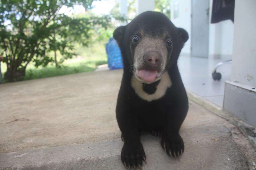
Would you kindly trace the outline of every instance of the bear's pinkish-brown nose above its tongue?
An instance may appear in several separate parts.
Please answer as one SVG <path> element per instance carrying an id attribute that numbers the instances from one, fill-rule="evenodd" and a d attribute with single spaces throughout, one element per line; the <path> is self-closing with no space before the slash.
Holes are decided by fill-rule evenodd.
<path id="1" fill-rule="evenodd" d="M 158 69 L 162 62 L 162 56 L 158 51 L 148 51 L 143 56 L 143 61 L 147 67 L 151 69 Z"/>

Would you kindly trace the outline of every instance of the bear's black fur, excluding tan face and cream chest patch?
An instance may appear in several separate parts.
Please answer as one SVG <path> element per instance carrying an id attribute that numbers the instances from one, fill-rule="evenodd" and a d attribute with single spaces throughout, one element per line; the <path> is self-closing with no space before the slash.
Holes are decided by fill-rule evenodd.
<path id="1" fill-rule="evenodd" d="M 165 68 L 172 86 L 167 89 L 162 98 L 152 102 L 141 99 L 131 87 L 133 76 L 131 66 L 135 49 L 131 47 L 131 39 L 140 29 L 152 37 L 166 32 L 173 41 L 173 49 L 172 52 L 168 51 L 168 63 Z M 124 64 L 116 105 L 116 118 L 124 139 L 121 151 L 122 162 L 127 166 L 136 167 L 141 166 L 142 160 L 146 159 L 140 141 L 141 130 L 161 132 L 161 145 L 166 153 L 175 157 L 182 154 L 184 143 L 179 135 L 179 129 L 188 111 L 188 98 L 177 60 L 184 43 L 188 40 L 187 32 L 182 28 L 176 28 L 164 14 L 147 11 L 138 15 L 126 26 L 117 28 L 113 37 L 120 46 Z M 144 91 L 153 94 L 158 83 L 146 84 Z"/>

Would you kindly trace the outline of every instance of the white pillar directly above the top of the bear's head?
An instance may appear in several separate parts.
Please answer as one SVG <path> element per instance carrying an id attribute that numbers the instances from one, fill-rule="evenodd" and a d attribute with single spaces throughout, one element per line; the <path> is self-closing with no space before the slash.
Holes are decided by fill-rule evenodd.
<path id="1" fill-rule="evenodd" d="M 154 0 L 137 0 L 136 14 L 139 15 L 145 11 L 154 11 L 155 1 Z"/>

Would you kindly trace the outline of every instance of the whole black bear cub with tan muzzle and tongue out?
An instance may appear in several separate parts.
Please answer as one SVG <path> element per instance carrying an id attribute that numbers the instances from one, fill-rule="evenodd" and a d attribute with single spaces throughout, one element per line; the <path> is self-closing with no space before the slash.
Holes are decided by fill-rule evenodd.
<path id="1" fill-rule="evenodd" d="M 123 78 L 116 105 L 116 119 L 124 145 L 121 160 L 139 167 L 146 155 L 141 131 L 161 137 L 169 156 L 179 157 L 184 143 L 179 135 L 188 111 L 188 98 L 177 60 L 188 33 L 162 13 L 147 11 L 113 33 L 123 58 Z"/>

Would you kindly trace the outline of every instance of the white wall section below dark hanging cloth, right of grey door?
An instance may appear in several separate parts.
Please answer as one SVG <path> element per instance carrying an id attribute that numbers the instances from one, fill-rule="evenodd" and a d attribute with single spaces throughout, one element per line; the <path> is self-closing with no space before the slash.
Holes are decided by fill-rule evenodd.
<path id="1" fill-rule="evenodd" d="M 209 56 L 230 57 L 233 52 L 234 24 L 225 20 L 211 24 L 212 0 L 209 8 Z"/>

